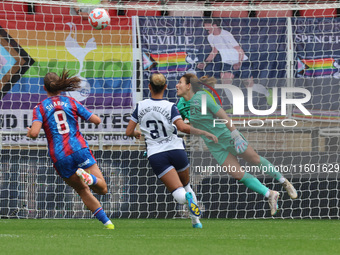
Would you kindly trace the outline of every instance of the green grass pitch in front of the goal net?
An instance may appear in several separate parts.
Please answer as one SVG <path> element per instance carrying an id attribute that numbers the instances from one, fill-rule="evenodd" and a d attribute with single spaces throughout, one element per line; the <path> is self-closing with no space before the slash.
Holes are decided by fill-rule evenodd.
<path id="1" fill-rule="evenodd" d="M 339 254 L 338 220 L 0 220 L 0 254 Z"/>

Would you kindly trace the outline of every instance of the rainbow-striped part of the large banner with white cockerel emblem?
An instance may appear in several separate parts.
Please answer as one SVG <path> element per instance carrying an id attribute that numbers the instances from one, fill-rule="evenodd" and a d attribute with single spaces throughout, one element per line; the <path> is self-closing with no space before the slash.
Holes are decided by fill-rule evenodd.
<path id="1" fill-rule="evenodd" d="M 9 19 L 8 19 L 9 18 Z M 24 15 L 0 18 L 0 78 L 2 109 L 32 109 L 46 98 L 43 77 L 64 68 L 81 78 L 81 90 L 69 93 L 89 109 L 132 107 L 131 27 L 126 19 L 105 30 L 94 30 L 78 17 L 48 18 Z M 30 61 L 21 61 L 9 48 L 12 43 L 27 53 Z M 13 56 L 11 56 L 11 54 Z M 29 62 L 29 64 L 27 64 Z M 11 72 L 20 64 L 25 72 Z M 13 80 L 13 77 L 16 80 Z M 13 82 L 14 81 L 14 82 Z"/>

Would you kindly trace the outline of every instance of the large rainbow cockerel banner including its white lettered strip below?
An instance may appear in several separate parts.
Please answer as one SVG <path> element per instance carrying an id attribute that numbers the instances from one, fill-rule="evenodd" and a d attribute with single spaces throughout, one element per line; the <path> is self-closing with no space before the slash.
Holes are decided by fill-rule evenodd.
<path id="1" fill-rule="evenodd" d="M 65 68 L 81 79 L 79 91 L 66 92 L 99 115 L 102 124 L 80 120 L 87 132 L 122 132 L 132 111 L 131 19 L 112 19 L 111 26 L 94 30 L 80 16 L 6 15 L 0 17 L 0 131 L 25 132 L 32 109 L 47 95 L 46 73 Z M 105 136 L 107 144 L 131 139 Z M 28 143 L 25 135 L 6 143 Z M 37 139 L 37 144 L 45 144 Z M 89 141 L 90 144 L 98 140 Z"/>

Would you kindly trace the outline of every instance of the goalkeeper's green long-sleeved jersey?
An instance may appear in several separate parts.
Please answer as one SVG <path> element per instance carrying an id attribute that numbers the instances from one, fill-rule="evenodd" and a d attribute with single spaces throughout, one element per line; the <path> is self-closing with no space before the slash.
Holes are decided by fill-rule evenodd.
<path id="1" fill-rule="evenodd" d="M 202 114 L 202 95 L 205 94 L 207 98 L 207 114 Z M 204 91 L 198 91 L 189 101 L 185 101 L 182 97 L 177 108 L 182 115 L 183 119 L 188 119 L 193 127 L 205 130 L 209 133 L 214 134 L 219 137 L 222 134 L 230 133 L 229 129 L 225 124 L 216 124 L 214 126 L 214 119 L 217 119 L 216 112 L 218 112 L 221 107 L 216 104 L 216 102 Z M 205 136 L 201 136 L 206 144 L 214 144 L 213 141 L 209 140 Z"/>

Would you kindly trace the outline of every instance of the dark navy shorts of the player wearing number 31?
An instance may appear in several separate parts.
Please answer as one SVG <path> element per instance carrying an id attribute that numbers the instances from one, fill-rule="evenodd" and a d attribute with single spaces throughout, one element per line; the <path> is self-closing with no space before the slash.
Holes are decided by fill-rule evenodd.
<path id="1" fill-rule="evenodd" d="M 163 177 L 173 168 L 179 173 L 190 166 L 185 150 L 172 150 L 156 153 L 149 157 L 149 162 L 153 172 L 158 178 Z"/>

